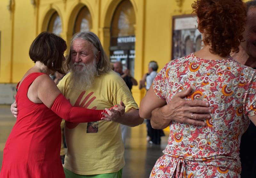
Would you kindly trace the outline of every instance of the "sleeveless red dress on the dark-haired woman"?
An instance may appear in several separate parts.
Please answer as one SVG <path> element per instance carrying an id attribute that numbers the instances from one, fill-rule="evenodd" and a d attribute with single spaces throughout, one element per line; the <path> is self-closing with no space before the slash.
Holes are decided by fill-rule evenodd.
<path id="1" fill-rule="evenodd" d="M 42 74 L 29 74 L 17 92 L 19 114 L 5 143 L 0 178 L 65 178 L 60 161 L 61 117 L 56 110 L 52 111 L 53 108 L 49 109 L 43 103 L 35 104 L 27 97 L 29 86 Z M 93 110 L 94 113 L 101 111 Z"/>

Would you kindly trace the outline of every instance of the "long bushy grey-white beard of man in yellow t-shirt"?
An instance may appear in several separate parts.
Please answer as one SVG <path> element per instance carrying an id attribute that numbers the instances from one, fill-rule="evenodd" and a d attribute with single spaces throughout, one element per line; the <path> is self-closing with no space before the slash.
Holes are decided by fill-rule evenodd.
<path id="1" fill-rule="evenodd" d="M 83 66 L 83 68 L 80 69 L 80 66 Z M 84 63 L 70 62 L 70 68 L 71 88 L 87 90 L 92 87 L 94 77 L 97 73 L 95 59 L 93 59 L 93 61 L 87 65 L 85 65 Z"/>

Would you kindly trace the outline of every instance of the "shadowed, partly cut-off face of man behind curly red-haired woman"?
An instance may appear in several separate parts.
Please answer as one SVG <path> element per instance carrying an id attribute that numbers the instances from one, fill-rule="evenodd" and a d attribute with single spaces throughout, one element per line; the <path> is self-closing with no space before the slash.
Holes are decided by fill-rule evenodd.
<path id="1" fill-rule="evenodd" d="M 243 36 L 245 41 L 241 43 L 241 46 L 250 57 L 256 58 L 256 7 L 251 7 L 247 12 Z"/>

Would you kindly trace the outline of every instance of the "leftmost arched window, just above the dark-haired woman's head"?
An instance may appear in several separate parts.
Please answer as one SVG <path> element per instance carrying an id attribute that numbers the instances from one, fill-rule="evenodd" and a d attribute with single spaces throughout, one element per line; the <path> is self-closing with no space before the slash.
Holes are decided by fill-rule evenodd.
<path id="1" fill-rule="evenodd" d="M 62 27 L 61 27 L 61 19 L 59 14 L 55 11 L 53 12 L 48 26 L 47 26 L 47 31 L 52 32 L 58 36 L 60 36 L 60 33 L 62 32 Z"/>

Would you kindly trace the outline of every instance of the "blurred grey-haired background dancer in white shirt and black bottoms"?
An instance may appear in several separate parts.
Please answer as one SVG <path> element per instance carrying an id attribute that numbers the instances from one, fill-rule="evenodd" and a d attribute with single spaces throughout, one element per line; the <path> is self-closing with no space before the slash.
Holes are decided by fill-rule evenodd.
<path id="1" fill-rule="evenodd" d="M 143 75 L 142 80 L 140 80 L 140 85 L 139 85 L 139 89 L 142 88 L 146 88 L 146 90 L 148 91 L 148 89 L 150 88 L 151 84 L 153 83 L 156 75 L 157 75 L 157 69 L 158 69 L 158 65 L 156 63 L 156 61 L 150 61 L 148 64 L 148 73 Z M 145 84 L 146 82 L 146 84 Z M 164 136 L 164 132 L 162 129 L 154 129 L 152 128 L 151 124 L 150 124 L 150 120 L 146 120 L 147 122 L 147 141 L 150 144 L 160 144 L 161 143 L 161 136 Z"/>

